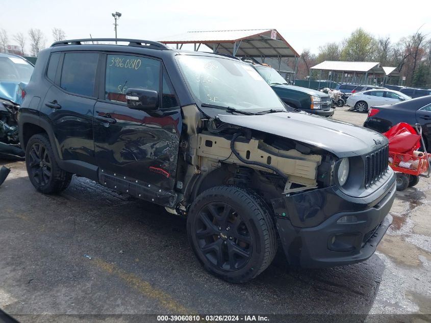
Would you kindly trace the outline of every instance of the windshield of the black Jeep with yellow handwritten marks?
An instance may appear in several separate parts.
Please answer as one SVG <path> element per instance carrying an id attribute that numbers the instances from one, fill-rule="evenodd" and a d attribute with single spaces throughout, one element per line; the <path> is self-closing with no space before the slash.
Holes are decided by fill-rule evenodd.
<path id="1" fill-rule="evenodd" d="M 199 104 L 239 110 L 285 110 L 280 98 L 248 64 L 196 55 L 178 55 L 176 60 Z"/>

